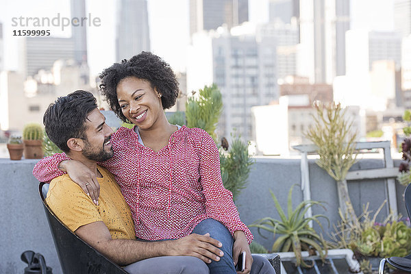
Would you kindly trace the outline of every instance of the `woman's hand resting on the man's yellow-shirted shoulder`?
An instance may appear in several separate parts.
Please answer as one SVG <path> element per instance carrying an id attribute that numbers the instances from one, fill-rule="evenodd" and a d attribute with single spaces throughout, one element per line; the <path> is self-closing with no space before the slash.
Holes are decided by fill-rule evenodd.
<path id="1" fill-rule="evenodd" d="M 73 182 L 78 184 L 97 206 L 99 205 L 100 185 L 95 173 L 86 165 L 77 160 L 64 160 L 60 162 L 58 169 L 69 174 Z"/>

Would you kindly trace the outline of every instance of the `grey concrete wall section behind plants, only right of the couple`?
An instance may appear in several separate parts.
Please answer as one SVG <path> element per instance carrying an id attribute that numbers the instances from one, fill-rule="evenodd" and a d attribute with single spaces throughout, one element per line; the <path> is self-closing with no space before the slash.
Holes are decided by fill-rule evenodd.
<path id="1" fill-rule="evenodd" d="M 400 160 L 395 160 L 395 166 L 399 166 Z M 365 159 L 354 164 L 350 171 L 360 169 L 377 169 L 384 167 L 383 160 Z M 323 169 L 321 169 L 314 160 L 309 160 L 310 170 L 310 190 L 311 199 L 315 201 L 324 201 L 326 210 L 320 206 L 314 206 L 312 214 L 324 214 L 327 216 L 331 224 L 336 224 L 340 221 L 338 214 L 338 195 L 336 182 Z M 295 208 L 301 201 L 303 195 L 301 191 L 301 171 L 300 160 L 286 159 L 264 159 L 257 158 L 253 164 L 249 176 L 247 188 L 242 190 L 236 199 L 238 212 L 241 220 L 246 225 L 251 225 L 254 221 L 264 217 L 272 217 L 279 219 L 279 214 L 275 209 L 275 204 L 271 198 L 269 190 L 272 190 L 277 197 L 280 206 L 284 212 L 287 207 L 288 190 L 293 184 L 298 184 L 292 191 L 292 208 Z M 362 208 L 366 203 L 369 203 L 369 210 L 375 212 L 387 199 L 386 181 L 382 179 L 370 179 L 358 181 L 349 181 L 348 190 L 353 208 L 357 216 L 362 213 Z M 403 192 L 405 186 L 396 182 L 397 190 L 397 208 L 402 216 L 407 216 L 406 208 L 403 201 Z M 384 206 L 377 217 L 377 221 L 382 221 L 388 215 L 388 207 Z M 371 214 L 373 216 L 373 214 Z M 325 219 L 319 219 L 325 232 L 324 238 L 329 239 L 329 234 L 334 231 L 332 225 L 328 227 Z M 314 223 L 314 229 L 321 232 L 319 225 Z M 254 240 L 264 245 L 271 250 L 273 245 L 273 234 L 261 230 L 262 235 L 258 234 L 258 229 L 251 227 Z"/>

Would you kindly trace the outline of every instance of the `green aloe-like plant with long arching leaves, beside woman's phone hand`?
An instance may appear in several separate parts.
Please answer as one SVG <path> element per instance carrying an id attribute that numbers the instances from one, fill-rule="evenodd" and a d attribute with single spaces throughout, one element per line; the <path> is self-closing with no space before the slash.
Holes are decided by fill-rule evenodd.
<path id="1" fill-rule="evenodd" d="M 259 234 L 260 229 L 264 229 L 266 231 L 273 233 L 273 236 L 275 238 L 272 247 L 273 252 L 293 251 L 295 253 L 295 260 L 297 266 L 301 265 L 303 267 L 311 267 L 303 261 L 301 251 L 313 248 L 317 251 L 321 260 L 323 260 L 324 262 L 325 257 L 327 256 L 327 243 L 325 242 L 321 234 L 317 234 L 314 231 L 314 229 L 310 227 L 309 223 L 310 221 L 315 221 L 319 224 L 321 229 L 323 229 L 323 226 L 321 225 L 319 218 L 326 219 L 328 223 L 329 220 L 323 214 L 316 214 L 309 218 L 304 217 L 304 214 L 306 214 L 308 208 L 312 208 L 312 206 L 314 205 L 321 206 L 325 209 L 322 202 L 319 201 L 302 201 L 293 210 L 292 188 L 294 186 L 296 185 L 292 185 L 290 191 L 288 192 L 287 215 L 284 212 L 284 210 L 282 210 L 281 206 L 279 206 L 277 197 L 275 197 L 274 193 L 270 190 L 271 197 L 273 197 L 275 208 L 279 214 L 280 220 L 273 219 L 271 217 L 266 217 L 254 222 L 250 225 L 250 227 L 257 227 Z M 277 234 L 280 234 L 280 236 L 277 236 Z"/>

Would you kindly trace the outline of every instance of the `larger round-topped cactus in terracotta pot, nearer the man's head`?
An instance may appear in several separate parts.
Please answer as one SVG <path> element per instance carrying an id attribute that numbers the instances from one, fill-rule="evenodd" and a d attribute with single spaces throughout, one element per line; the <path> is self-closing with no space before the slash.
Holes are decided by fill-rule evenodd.
<path id="1" fill-rule="evenodd" d="M 43 129 L 37 123 L 25 125 L 23 129 L 24 158 L 40 159 L 43 157 L 42 149 Z"/>

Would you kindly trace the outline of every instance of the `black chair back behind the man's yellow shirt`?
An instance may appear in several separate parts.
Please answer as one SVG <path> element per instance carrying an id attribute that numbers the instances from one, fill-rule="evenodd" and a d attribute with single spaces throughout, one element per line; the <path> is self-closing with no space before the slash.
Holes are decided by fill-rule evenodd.
<path id="1" fill-rule="evenodd" d="M 38 192 L 45 208 L 63 273 L 127 273 L 119 265 L 105 258 L 99 251 L 77 237 L 53 214 L 47 203 L 45 203 L 45 197 L 43 197 L 42 186 L 44 184 L 40 183 Z"/>

